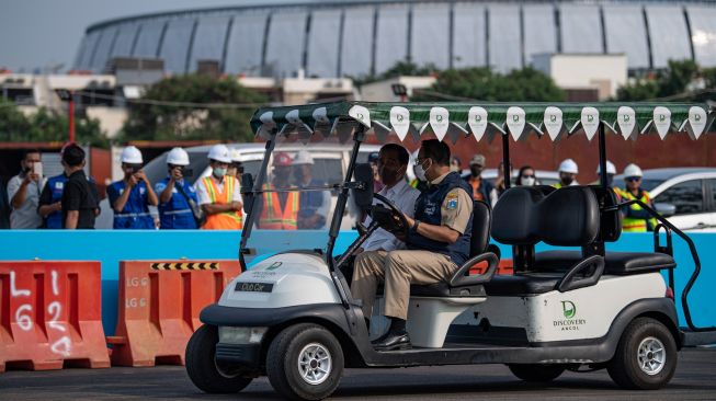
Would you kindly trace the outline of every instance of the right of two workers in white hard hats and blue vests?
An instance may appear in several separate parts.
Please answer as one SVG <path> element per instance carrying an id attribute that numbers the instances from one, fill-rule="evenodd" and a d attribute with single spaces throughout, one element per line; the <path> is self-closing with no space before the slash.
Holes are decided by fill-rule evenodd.
<path id="1" fill-rule="evenodd" d="M 196 220 L 193 207 L 198 205 L 194 187 L 184 180 L 187 172 L 189 154 L 182 148 L 172 149 L 167 154 L 169 176 L 155 185 L 159 194 L 159 228 L 162 230 L 194 230 Z"/>

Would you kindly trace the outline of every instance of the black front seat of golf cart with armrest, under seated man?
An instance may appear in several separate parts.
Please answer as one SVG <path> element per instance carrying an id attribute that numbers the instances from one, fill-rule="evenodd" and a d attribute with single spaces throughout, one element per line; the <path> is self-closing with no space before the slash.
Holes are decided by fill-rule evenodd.
<path id="1" fill-rule="evenodd" d="M 496 272 L 499 257 L 493 252 L 488 252 L 490 241 L 490 208 L 486 203 L 476 200 L 473 204 L 473 230 L 470 232 L 469 259 L 455 271 L 447 282 L 435 284 L 413 284 L 410 286 L 410 296 L 418 297 L 484 297 L 482 284 L 488 282 Z M 469 276 L 470 267 L 478 263 L 488 262 L 489 266 L 484 274 Z"/>

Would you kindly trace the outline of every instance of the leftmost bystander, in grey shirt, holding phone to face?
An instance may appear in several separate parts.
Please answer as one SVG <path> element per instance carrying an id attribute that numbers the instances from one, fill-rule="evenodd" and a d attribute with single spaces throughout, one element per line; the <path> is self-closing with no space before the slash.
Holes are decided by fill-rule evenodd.
<path id="1" fill-rule="evenodd" d="M 39 150 L 27 150 L 20 162 L 20 174 L 8 182 L 10 199 L 10 228 L 34 229 L 43 225 L 37 213 L 39 194 L 47 180 L 43 179 L 43 163 Z"/>

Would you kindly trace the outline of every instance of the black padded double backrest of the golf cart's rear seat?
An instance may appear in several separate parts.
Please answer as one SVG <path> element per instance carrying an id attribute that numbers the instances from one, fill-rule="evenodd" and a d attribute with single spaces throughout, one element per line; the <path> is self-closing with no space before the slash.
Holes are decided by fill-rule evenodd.
<path id="1" fill-rule="evenodd" d="M 512 245 L 584 247 L 600 229 L 599 203 L 586 186 L 515 186 L 502 194 L 492 217 L 492 238 Z"/>

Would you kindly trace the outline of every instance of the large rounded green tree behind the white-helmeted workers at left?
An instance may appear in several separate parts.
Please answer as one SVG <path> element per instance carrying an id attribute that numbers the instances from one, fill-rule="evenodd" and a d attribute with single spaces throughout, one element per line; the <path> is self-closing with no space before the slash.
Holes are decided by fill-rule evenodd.
<path id="1" fill-rule="evenodd" d="M 250 141 L 249 121 L 266 99 L 234 79 L 206 75 L 172 77 L 151 85 L 129 106 L 121 140 L 219 139 Z M 177 103 L 226 104 L 218 107 Z M 231 106 L 246 105 L 249 106 Z"/>

